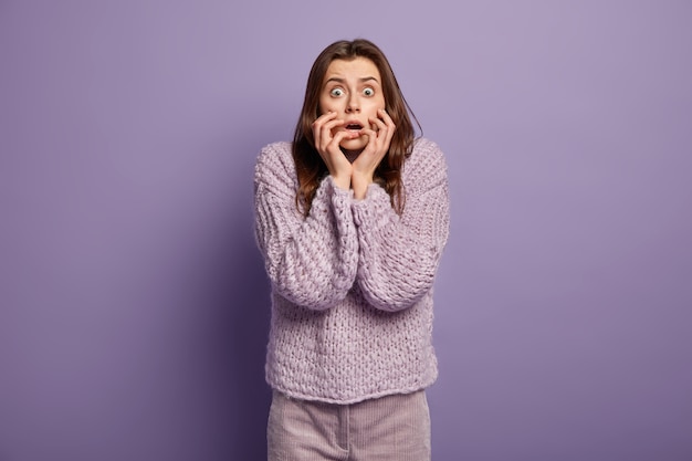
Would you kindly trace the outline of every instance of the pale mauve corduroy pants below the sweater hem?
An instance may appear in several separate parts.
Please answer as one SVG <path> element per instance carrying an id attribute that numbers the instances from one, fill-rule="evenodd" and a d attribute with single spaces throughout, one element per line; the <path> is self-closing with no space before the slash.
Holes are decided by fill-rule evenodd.
<path id="1" fill-rule="evenodd" d="M 292 399 L 274 391 L 269 461 L 430 461 L 426 392 L 352 405 Z"/>

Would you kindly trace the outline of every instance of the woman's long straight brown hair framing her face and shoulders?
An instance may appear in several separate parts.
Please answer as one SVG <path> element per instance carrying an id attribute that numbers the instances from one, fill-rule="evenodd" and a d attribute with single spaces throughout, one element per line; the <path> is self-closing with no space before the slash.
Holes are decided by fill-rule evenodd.
<path id="1" fill-rule="evenodd" d="M 391 198 L 391 205 L 398 213 L 403 210 L 405 193 L 401 182 L 401 168 L 413 148 L 415 130 L 411 117 L 418 121 L 411 112 L 408 103 L 401 94 L 397 78 L 389 65 L 389 61 L 375 43 L 357 39 L 354 41 L 342 40 L 332 43 L 324 49 L 315 60 L 305 88 L 305 101 L 301 117 L 295 127 L 293 137 L 293 160 L 298 179 L 296 206 L 307 216 L 315 197 L 315 192 L 322 179 L 328 175 L 328 170 L 322 157 L 315 148 L 312 124 L 319 114 L 319 94 L 322 92 L 324 76 L 329 64 L 334 60 L 350 61 L 356 57 L 366 57 L 377 66 L 382 78 L 382 91 L 386 111 L 391 117 L 397 129 L 395 130 L 389 151 L 375 170 L 375 181 L 385 188 Z M 409 116 L 410 114 L 410 116 Z"/>

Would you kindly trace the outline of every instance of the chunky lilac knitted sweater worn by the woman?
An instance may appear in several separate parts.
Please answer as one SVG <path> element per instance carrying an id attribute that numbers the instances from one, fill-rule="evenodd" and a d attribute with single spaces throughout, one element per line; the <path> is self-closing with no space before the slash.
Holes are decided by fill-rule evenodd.
<path id="1" fill-rule="evenodd" d="M 432 285 L 449 233 L 438 146 L 418 139 L 401 176 L 401 216 L 380 186 L 357 200 L 327 176 L 304 217 L 291 144 L 260 153 L 255 237 L 272 285 L 265 367 L 272 388 L 353 404 L 436 380 Z"/>

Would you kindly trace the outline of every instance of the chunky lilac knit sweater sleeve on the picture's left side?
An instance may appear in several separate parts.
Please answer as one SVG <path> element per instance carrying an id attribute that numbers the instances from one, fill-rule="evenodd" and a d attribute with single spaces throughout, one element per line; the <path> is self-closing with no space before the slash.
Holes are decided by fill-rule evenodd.
<path id="1" fill-rule="evenodd" d="M 255 238 L 274 290 L 292 303 L 325 310 L 354 284 L 358 241 L 353 192 L 331 177 L 319 185 L 310 214 L 295 205 L 295 167 L 290 144 L 270 145 L 254 176 Z"/>

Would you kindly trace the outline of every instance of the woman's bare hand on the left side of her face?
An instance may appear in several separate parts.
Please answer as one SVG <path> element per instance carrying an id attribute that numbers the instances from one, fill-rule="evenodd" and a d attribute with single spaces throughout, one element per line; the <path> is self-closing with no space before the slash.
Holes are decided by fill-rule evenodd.
<path id="1" fill-rule="evenodd" d="M 315 148 L 327 166 L 334 184 L 342 189 L 348 190 L 350 188 L 353 167 L 342 151 L 339 144 L 345 137 L 353 135 L 345 130 L 332 135 L 332 130 L 343 124 L 344 121 L 336 118 L 335 112 L 327 112 L 313 122 L 313 137 L 315 139 Z"/>

